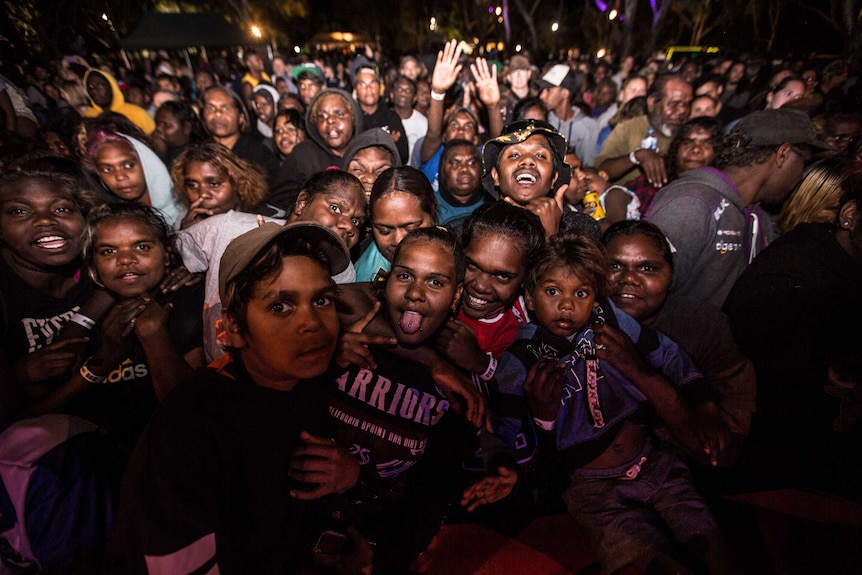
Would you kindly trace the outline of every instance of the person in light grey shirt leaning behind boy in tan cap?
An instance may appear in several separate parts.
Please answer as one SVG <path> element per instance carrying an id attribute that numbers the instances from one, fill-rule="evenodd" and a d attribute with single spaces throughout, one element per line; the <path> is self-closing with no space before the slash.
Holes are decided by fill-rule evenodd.
<path id="1" fill-rule="evenodd" d="M 352 248 L 359 242 L 359 230 L 365 213 L 365 193 L 359 180 L 345 172 L 333 170 L 312 176 L 300 192 L 287 221 L 322 224 L 333 230 L 348 248 Z M 218 292 L 221 255 L 231 240 L 257 227 L 259 217 L 230 210 L 208 217 L 179 233 L 179 250 L 188 270 L 207 273 L 203 306 L 207 361 L 224 354 L 219 341 L 219 334 L 224 333 L 221 325 L 221 295 Z M 281 219 L 269 221 L 285 223 Z M 334 278 L 336 283 L 351 283 L 355 279 L 352 264 Z"/>

